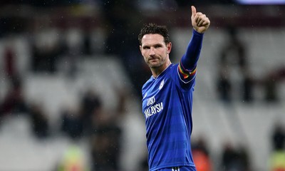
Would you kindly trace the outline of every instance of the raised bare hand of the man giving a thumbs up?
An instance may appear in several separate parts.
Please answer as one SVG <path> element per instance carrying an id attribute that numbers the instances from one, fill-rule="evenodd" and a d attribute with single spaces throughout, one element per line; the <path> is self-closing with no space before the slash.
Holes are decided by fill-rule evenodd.
<path id="1" fill-rule="evenodd" d="M 208 17 L 201 12 L 197 12 L 195 6 L 191 6 L 191 9 L 191 21 L 193 28 L 199 33 L 204 33 L 209 28 L 210 21 Z"/>

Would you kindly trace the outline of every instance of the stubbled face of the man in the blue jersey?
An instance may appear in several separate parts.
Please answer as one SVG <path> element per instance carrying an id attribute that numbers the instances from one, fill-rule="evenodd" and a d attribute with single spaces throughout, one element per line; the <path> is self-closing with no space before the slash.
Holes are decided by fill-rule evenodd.
<path id="1" fill-rule="evenodd" d="M 160 34 L 145 34 L 142 36 L 142 46 L 140 52 L 145 63 L 150 68 L 160 68 L 169 58 L 168 54 L 171 51 L 171 43 L 165 45 L 163 36 Z"/>

